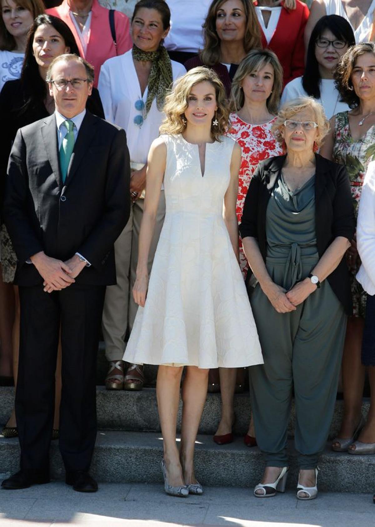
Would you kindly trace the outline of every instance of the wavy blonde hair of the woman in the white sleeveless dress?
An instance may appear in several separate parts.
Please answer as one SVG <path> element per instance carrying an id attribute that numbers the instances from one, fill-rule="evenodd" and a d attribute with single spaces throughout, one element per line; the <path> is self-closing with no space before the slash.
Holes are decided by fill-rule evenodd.
<path id="1" fill-rule="evenodd" d="M 160 126 L 160 133 L 174 135 L 182 133 L 186 128 L 186 119 L 184 112 L 188 108 L 188 97 L 192 87 L 201 82 L 209 82 L 216 95 L 216 111 L 215 118 L 218 120 L 218 125 L 211 124 L 211 136 L 214 141 L 220 141 L 220 136 L 224 135 L 230 128 L 229 108 L 226 102 L 226 95 L 223 83 L 220 81 L 218 75 L 206 66 L 194 67 L 192 70 L 185 73 L 180 79 L 175 81 L 172 91 L 165 97 L 164 113 L 165 119 Z"/>

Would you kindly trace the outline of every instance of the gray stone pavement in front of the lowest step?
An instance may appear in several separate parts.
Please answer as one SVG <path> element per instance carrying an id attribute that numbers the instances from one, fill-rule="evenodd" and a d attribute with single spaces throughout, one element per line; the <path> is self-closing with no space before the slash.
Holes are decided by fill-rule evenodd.
<path id="1" fill-rule="evenodd" d="M 0 477 L 1 480 L 1 477 Z M 262 500 L 249 489 L 205 487 L 202 496 L 177 499 L 161 484 L 101 483 L 78 494 L 62 482 L 0 491 L 1 527 L 373 527 L 371 494 L 319 492 L 300 502 L 294 490 Z"/>

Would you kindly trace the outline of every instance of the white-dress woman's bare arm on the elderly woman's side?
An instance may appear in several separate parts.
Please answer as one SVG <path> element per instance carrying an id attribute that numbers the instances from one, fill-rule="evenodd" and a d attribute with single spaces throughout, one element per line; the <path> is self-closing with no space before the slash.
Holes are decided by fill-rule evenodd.
<path id="1" fill-rule="evenodd" d="M 234 254 L 239 259 L 238 221 L 235 213 L 238 194 L 238 173 L 241 166 L 241 147 L 235 143 L 231 159 L 231 180 L 224 196 L 223 217 L 229 232 Z"/>

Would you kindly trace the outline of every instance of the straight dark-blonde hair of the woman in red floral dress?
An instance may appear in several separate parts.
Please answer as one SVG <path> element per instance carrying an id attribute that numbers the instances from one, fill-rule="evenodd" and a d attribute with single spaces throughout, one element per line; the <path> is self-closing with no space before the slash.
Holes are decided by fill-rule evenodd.
<path id="1" fill-rule="evenodd" d="M 241 85 L 244 78 L 253 71 L 261 70 L 266 64 L 270 64 L 273 68 L 273 86 L 272 93 L 266 101 L 267 110 L 273 114 L 278 113 L 283 72 L 278 57 L 270 50 L 252 50 L 240 62 L 233 77 L 231 89 L 230 105 L 233 112 L 241 110 L 245 102 L 245 95 Z"/>

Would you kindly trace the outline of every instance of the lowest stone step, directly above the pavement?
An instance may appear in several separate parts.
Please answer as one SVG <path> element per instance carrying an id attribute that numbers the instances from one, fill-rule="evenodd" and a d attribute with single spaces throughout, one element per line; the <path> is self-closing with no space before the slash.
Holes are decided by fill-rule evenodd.
<path id="1" fill-rule="evenodd" d="M 291 445 L 290 445 L 291 446 Z M 163 444 L 154 432 L 100 431 L 91 472 L 98 481 L 162 482 L 160 460 Z M 297 485 L 297 458 L 291 450 L 288 488 Z M 0 437 L 0 473 L 18 470 L 17 439 Z M 374 492 L 375 456 L 323 452 L 320 460 L 319 490 L 330 492 Z M 204 485 L 253 487 L 260 481 L 263 460 L 258 448 L 248 448 L 238 438 L 230 445 L 218 446 L 211 437 L 199 435 L 196 441 L 195 470 Z M 63 479 L 64 469 L 57 441 L 51 447 L 53 479 Z M 250 495 L 250 491 L 249 491 Z"/>

